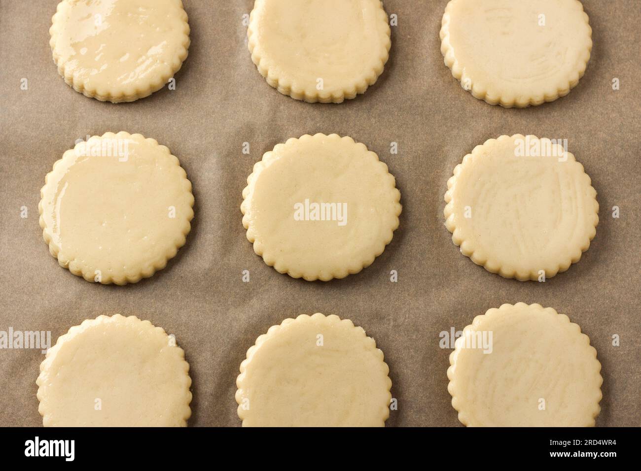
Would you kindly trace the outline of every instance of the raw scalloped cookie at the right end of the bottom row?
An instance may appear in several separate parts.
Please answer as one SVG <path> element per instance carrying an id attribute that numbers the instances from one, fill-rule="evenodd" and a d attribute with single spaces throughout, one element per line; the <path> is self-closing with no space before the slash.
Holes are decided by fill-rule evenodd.
<path id="1" fill-rule="evenodd" d="M 456 339 L 447 370 L 452 406 L 468 427 L 592 427 L 601 363 L 590 338 L 540 304 L 503 304 Z"/>

